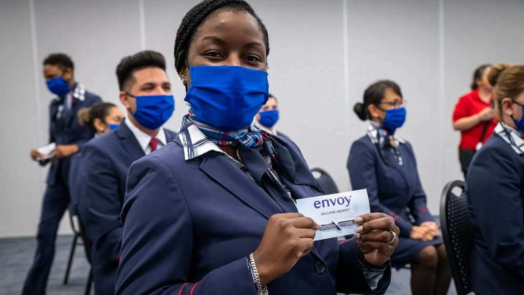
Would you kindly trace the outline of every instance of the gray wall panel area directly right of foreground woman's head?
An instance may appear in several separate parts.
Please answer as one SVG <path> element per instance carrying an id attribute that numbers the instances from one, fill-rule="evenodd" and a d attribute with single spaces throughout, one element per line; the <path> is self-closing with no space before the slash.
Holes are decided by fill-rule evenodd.
<path id="1" fill-rule="evenodd" d="M 277 130 L 294 140 L 310 167 L 345 185 L 341 1 L 251 2 L 269 33 L 269 90 L 279 100 Z"/>

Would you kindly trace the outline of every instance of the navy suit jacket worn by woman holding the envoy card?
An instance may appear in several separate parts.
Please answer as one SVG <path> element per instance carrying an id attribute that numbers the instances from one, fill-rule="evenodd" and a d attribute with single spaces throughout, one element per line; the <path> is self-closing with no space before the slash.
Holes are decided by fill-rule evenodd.
<path id="1" fill-rule="evenodd" d="M 288 188 L 297 198 L 320 194 L 306 185 Z M 256 295 L 246 258 L 277 213 L 279 205 L 223 153 L 185 161 L 177 136 L 129 169 L 116 293 Z M 388 267 L 377 293 L 389 278 Z M 354 239 L 316 241 L 267 287 L 271 295 L 373 293 Z"/>

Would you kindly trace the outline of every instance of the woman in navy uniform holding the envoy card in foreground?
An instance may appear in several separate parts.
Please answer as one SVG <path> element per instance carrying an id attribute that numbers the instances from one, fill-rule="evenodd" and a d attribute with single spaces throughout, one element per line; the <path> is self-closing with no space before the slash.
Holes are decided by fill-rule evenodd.
<path id="1" fill-rule="evenodd" d="M 355 239 L 314 242 L 320 226 L 294 202 L 321 192 L 300 150 L 252 127 L 268 53 L 243 0 L 206 0 L 182 19 L 174 60 L 191 109 L 174 142 L 129 169 L 117 294 L 386 291 L 393 218 L 364 214 Z"/>

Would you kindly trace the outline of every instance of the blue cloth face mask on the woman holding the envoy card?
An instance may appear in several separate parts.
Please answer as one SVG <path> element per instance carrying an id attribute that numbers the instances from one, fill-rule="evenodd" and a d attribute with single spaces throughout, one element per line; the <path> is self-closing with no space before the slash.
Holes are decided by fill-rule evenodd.
<path id="1" fill-rule="evenodd" d="M 267 73 L 238 66 L 189 68 L 189 102 L 196 120 L 221 131 L 234 131 L 253 122 L 269 98 Z"/>

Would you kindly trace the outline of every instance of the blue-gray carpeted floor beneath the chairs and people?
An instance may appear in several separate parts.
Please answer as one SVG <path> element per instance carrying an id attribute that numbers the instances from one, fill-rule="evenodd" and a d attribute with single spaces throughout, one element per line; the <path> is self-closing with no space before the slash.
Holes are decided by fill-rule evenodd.
<path id="1" fill-rule="evenodd" d="M 84 293 L 89 264 L 85 259 L 84 249 L 80 246 L 75 251 L 69 283 L 63 285 L 71 241 L 72 236 L 59 236 L 57 239 L 57 251 L 47 287 L 47 294 L 49 295 Z M 0 239 L 0 294 L 18 295 L 21 293 L 21 287 L 35 254 L 35 247 L 36 239 L 33 237 Z M 409 278 L 409 270 L 393 270 L 392 282 L 386 294 L 410 294 Z M 456 294 L 453 283 L 448 294 Z"/>

